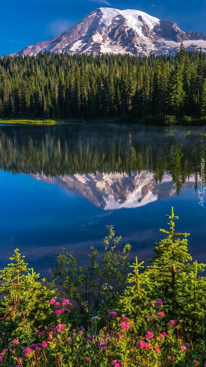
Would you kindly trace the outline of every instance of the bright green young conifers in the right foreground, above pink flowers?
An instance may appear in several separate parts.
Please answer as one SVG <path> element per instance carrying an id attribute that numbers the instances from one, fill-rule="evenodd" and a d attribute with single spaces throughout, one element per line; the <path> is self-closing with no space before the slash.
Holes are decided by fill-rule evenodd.
<path id="1" fill-rule="evenodd" d="M 135 330 L 141 331 L 143 317 L 147 314 L 146 302 L 162 298 L 168 313 L 166 319 L 184 320 L 185 333 L 199 337 L 203 333 L 206 312 L 206 279 L 199 277 L 199 273 L 205 270 L 206 264 L 196 261 L 190 264 L 192 258 L 186 239 L 189 233 L 175 232 L 174 221 L 179 217 L 174 215 L 173 207 L 171 215 L 166 216 L 170 219 L 170 230 L 160 229 L 160 232 L 167 237 L 155 243 L 152 265 L 143 269 L 136 259 L 136 277 L 128 275 L 128 282 L 133 285 L 127 286 L 121 297 L 122 311 L 128 312 Z M 179 237 L 184 238 L 180 240 Z M 143 273 L 139 274 L 139 268 Z"/>

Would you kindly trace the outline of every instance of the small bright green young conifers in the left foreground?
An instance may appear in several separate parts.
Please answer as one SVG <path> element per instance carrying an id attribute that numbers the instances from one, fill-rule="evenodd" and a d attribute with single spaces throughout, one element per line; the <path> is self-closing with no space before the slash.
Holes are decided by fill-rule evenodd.
<path id="1" fill-rule="evenodd" d="M 19 253 L 14 250 L 10 258 L 11 263 L 0 271 L 0 332 L 13 335 L 22 335 L 25 325 L 24 317 L 29 319 L 30 331 L 34 330 L 37 323 L 42 326 L 44 320 L 51 313 L 48 300 L 55 293 L 50 289 L 45 279 L 37 281 L 39 274 L 27 265 Z M 25 316 L 24 316 L 25 315 Z"/>

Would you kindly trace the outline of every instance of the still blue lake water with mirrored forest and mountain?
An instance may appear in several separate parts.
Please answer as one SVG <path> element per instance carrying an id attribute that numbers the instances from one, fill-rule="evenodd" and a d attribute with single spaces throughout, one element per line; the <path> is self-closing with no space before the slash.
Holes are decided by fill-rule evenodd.
<path id="1" fill-rule="evenodd" d="M 65 248 L 80 264 L 102 253 L 113 224 L 130 261 L 152 257 L 174 214 L 188 249 L 206 263 L 206 208 L 198 198 L 206 128 L 115 124 L 0 126 L 0 268 L 14 248 L 50 277 Z M 206 201 L 205 205 L 206 207 Z"/>

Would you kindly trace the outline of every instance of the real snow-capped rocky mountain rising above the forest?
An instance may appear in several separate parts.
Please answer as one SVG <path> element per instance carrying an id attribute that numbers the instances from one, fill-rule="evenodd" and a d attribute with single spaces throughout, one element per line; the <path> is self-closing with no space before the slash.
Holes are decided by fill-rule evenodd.
<path id="1" fill-rule="evenodd" d="M 206 35 L 183 32 L 177 23 L 160 20 L 139 10 L 99 8 L 62 34 L 11 54 L 37 55 L 41 51 L 99 54 L 174 54 L 183 41 L 186 50 L 206 52 Z"/>

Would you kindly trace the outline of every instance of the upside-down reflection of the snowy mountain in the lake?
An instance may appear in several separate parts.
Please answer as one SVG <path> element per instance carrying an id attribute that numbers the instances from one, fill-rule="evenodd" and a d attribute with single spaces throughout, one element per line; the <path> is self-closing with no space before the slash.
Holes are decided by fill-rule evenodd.
<path id="1" fill-rule="evenodd" d="M 30 174 L 33 178 L 60 185 L 84 197 L 103 210 L 137 208 L 155 200 L 171 197 L 176 193 L 172 176 L 165 172 L 161 184 L 157 183 L 153 172 L 99 173 L 59 175 L 56 177 Z M 184 189 L 194 188 L 195 177 L 183 184 Z"/>

